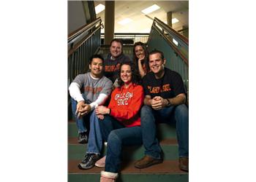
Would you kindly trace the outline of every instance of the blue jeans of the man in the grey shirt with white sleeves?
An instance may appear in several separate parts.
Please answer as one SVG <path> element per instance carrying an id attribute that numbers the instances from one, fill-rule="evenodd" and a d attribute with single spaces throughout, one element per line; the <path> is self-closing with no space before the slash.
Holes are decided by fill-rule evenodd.
<path id="1" fill-rule="evenodd" d="M 83 116 L 82 118 L 78 119 L 78 116 L 75 115 L 78 103 L 72 98 L 71 102 L 72 114 L 75 117 L 78 132 L 86 132 L 86 122 L 90 124 L 89 140 L 86 153 L 100 154 L 100 152 L 102 151 L 102 135 L 99 128 L 99 120 L 95 114 L 95 111 L 91 111 L 89 114 L 86 114 L 86 116 Z M 86 100 L 86 103 L 89 102 Z"/>

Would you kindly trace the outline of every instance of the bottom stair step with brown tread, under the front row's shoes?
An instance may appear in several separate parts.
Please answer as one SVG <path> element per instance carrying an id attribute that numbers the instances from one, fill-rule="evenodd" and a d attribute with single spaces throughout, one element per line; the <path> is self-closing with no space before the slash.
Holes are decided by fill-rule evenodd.
<path id="1" fill-rule="evenodd" d="M 79 162 L 80 160 L 69 160 L 69 182 L 99 181 L 99 173 L 104 170 L 104 167 L 93 167 L 90 170 L 80 170 L 78 168 Z M 179 170 L 178 160 L 164 160 L 162 164 L 153 165 L 145 169 L 135 168 L 134 163 L 135 161 L 122 162 L 121 173 L 119 173 L 117 181 L 187 182 L 189 180 L 189 173 Z"/>

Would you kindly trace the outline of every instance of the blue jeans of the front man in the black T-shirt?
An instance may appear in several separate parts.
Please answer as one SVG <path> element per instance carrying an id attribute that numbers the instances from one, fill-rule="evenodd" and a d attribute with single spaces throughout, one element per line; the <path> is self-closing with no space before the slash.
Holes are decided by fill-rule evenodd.
<path id="1" fill-rule="evenodd" d="M 189 157 L 189 109 L 185 104 L 154 110 L 143 106 L 140 111 L 141 130 L 145 154 L 155 159 L 161 158 L 161 147 L 157 140 L 156 120 L 176 123 L 179 157 Z"/>

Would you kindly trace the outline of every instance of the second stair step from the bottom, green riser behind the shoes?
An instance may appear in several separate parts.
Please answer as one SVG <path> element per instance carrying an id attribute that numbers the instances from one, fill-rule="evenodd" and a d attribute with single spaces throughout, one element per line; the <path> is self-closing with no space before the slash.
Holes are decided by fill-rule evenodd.
<path id="1" fill-rule="evenodd" d="M 77 138 L 69 138 L 68 159 L 83 159 L 86 154 L 87 144 L 80 144 Z M 163 159 L 178 159 L 178 144 L 176 138 L 165 138 L 160 141 L 163 151 Z M 103 154 L 106 154 L 107 147 L 104 146 Z M 144 147 L 124 146 L 122 157 L 127 160 L 138 160 L 144 156 Z"/>

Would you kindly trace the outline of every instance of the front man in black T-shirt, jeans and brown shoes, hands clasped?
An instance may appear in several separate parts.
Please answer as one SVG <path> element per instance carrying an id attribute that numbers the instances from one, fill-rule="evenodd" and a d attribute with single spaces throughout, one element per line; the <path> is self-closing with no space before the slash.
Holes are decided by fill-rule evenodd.
<path id="1" fill-rule="evenodd" d="M 145 157 L 135 162 L 135 167 L 145 168 L 162 162 L 161 148 L 156 137 L 155 120 L 176 122 L 179 167 L 189 171 L 189 110 L 186 106 L 186 90 L 181 76 L 165 68 L 162 52 L 149 53 L 151 72 L 143 77 L 144 106 L 140 119 Z"/>

